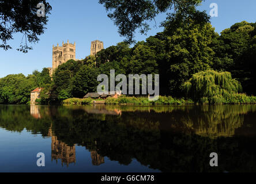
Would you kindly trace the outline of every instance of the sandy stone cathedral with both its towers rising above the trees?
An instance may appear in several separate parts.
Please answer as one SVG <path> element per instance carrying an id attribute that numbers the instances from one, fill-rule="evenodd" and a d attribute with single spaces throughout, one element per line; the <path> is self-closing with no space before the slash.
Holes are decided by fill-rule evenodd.
<path id="1" fill-rule="evenodd" d="M 95 40 L 91 42 L 92 56 L 95 56 L 101 49 L 104 49 L 103 41 Z M 50 75 L 52 76 L 59 65 L 66 63 L 70 59 L 78 60 L 76 59 L 76 42 L 72 44 L 67 40 L 67 43 L 62 42 L 62 46 L 59 46 L 59 44 L 56 47 L 52 45 L 52 68 L 48 68 Z"/>

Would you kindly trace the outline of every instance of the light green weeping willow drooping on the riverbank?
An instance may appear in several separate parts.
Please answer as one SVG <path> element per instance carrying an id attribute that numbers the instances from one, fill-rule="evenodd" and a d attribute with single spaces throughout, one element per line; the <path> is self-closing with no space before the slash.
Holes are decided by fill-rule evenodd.
<path id="1" fill-rule="evenodd" d="M 183 89 L 194 102 L 222 104 L 242 91 L 242 86 L 240 82 L 232 79 L 230 72 L 208 70 L 194 74 L 184 83 Z"/>

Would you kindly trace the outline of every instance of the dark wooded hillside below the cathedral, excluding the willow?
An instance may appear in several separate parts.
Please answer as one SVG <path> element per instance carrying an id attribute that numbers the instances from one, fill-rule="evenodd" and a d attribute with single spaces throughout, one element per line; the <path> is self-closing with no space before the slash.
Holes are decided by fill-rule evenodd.
<path id="1" fill-rule="evenodd" d="M 254 23 L 240 22 L 214 32 L 209 23 L 190 20 L 178 28 L 139 41 L 134 47 L 118 43 L 84 60 L 69 60 L 55 70 L 51 81 L 47 68 L 25 77 L 8 75 L 0 79 L 0 102 L 24 104 L 35 87 L 44 87 L 44 102 L 60 102 L 83 97 L 97 89 L 97 75 L 160 74 L 160 94 L 185 97 L 183 85 L 201 71 L 231 72 L 244 93 L 255 95 L 256 31 Z M 117 84 L 117 83 L 116 83 Z M 18 92 L 20 91 L 20 92 Z"/>

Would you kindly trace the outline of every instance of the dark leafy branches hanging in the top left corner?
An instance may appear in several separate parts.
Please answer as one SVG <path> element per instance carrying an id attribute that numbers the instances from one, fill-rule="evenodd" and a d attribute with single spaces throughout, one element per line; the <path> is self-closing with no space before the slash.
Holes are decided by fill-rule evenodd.
<path id="1" fill-rule="evenodd" d="M 43 3 L 45 16 L 37 16 L 37 4 Z M 46 0 L 1 0 L 0 1 L 0 48 L 12 49 L 7 41 L 13 39 L 13 34 L 23 34 L 18 51 L 28 52 L 29 43 L 37 43 L 38 36 L 44 33 L 51 6 Z"/>

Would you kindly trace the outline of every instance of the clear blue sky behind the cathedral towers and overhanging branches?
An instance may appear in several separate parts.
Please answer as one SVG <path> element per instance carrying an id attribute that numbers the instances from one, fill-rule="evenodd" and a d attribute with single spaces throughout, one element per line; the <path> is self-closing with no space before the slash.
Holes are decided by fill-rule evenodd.
<path id="1" fill-rule="evenodd" d="M 47 29 L 39 36 L 40 41 L 31 44 L 28 53 L 17 51 L 22 34 L 14 35 L 9 41 L 13 49 L 4 51 L 0 48 L 0 78 L 9 74 L 32 74 L 33 70 L 42 71 L 44 67 L 52 66 L 52 45 L 59 45 L 69 40 L 76 41 L 76 59 L 84 59 L 90 53 L 91 41 L 100 40 L 104 48 L 116 45 L 124 40 L 118 34 L 118 28 L 107 17 L 106 9 L 97 0 L 49 0 L 52 11 L 49 16 Z M 218 17 L 212 17 L 211 22 L 216 32 L 230 28 L 236 22 L 256 22 L 255 0 L 205 0 L 199 10 L 206 10 L 210 14 L 210 4 L 218 5 Z M 156 17 L 157 25 L 165 20 L 165 14 Z M 152 28 L 147 35 L 135 34 L 135 40 L 142 41 L 163 31 L 155 21 L 149 22 Z M 30 45 L 29 45 L 30 46 Z"/>

